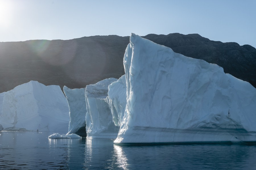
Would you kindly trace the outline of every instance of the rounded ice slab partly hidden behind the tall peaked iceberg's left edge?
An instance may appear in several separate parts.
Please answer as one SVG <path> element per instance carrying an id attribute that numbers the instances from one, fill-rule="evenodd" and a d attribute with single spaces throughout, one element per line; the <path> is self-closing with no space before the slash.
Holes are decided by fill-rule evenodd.
<path id="1" fill-rule="evenodd" d="M 125 75 L 108 86 L 107 102 L 109 104 L 113 121 L 120 126 L 126 107 L 126 80 Z"/>

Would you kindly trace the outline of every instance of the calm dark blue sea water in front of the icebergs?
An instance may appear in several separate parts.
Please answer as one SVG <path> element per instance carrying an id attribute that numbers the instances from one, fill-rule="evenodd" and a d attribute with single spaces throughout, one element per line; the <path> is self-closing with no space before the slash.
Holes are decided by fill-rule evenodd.
<path id="1" fill-rule="evenodd" d="M 119 146 L 51 134 L 0 132 L 0 169 L 256 169 L 255 145 Z"/>

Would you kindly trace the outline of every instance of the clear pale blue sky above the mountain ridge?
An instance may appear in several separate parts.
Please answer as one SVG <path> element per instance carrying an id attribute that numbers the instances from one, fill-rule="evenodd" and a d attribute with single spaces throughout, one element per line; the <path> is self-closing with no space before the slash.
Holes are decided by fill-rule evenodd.
<path id="1" fill-rule="evenodd" d="M 0 0 L 0 42 L 198 33 L 256 47 L 256 0 Z"/>

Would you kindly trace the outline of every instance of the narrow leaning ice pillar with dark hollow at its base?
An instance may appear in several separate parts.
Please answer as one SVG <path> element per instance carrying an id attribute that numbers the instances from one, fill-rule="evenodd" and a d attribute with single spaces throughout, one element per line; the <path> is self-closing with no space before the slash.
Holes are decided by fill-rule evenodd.
<path id="1" fill-rule="evenodd" d="M 78 135 L 86 136 L 86 104 L 85 104 L 85 88 L 70 89 L 64 86 L 63 91 L 67 97 L 69 104 L 69 131 L 67 133 L 76 133 Z M 84 129 L 84 134 L 80 134 L 79 129 Z"/>

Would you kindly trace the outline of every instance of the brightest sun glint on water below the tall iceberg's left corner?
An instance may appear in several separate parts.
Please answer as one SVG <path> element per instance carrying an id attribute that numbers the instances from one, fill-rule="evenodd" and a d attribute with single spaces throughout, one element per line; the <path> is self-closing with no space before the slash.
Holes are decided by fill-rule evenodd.
<path id="1" fill-rule="evenodd" d="M 116 158 L 118 167 L 122 169 L 127 169 L 127 157 L 123 152 L 123 148 L 121 146 L 114 145 L 114 156 Z"/>

